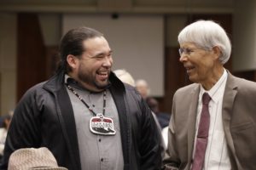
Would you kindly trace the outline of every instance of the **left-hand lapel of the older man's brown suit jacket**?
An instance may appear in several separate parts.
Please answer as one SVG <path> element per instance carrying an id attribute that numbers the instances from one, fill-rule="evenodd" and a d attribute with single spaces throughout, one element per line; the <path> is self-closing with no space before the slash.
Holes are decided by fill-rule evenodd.
<path id="1" fill-rule="evenodd" d="M 196 113 L 198 105 L 198 95 L 200 92 L 200 86 L 196 86 L 191 92 L 191 103 L 189 105 L 189 127 L 188 127 L 188 163 L 192 160 L 192 151 L 195 141 L 195 122 L 196 122 Z"/>

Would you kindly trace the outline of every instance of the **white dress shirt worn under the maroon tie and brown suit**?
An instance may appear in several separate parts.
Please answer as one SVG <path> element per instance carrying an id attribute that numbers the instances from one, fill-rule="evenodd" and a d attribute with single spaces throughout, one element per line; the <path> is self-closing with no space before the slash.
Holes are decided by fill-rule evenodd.
<path id="1" fill-rule="evenodd" d="M 201 86 L 197 107 L 195 138 L 197 136 L 197 130 L 201 117 L 202 94 L 207 92 L 212 98 L 209 103 L 210 127 L 203 170 L 231 169 L 230 157 L 228 155 L 227 143 L 224 136 L 224 127 L 222 121 L 222 103 L 224 97 L 224 88 L 227 82 L 227 76 L 227 71 L 224 70 L 222 77 L 219 78 L 218 82 L 209 91 L 206 91 Z"/>

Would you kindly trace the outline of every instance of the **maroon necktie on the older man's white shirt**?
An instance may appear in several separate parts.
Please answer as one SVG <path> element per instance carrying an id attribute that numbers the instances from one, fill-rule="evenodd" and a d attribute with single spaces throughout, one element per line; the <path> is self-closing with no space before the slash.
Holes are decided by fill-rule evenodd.
<path id="1" fill-rule="evenodd" d="M 201 170 L 204 164 L 210 125 L 210 114 L 208 110 L 208 104 L 210 100 L 211 97 L 209 96 L 209 94 L 204 93 L 202 96 L 201 118 L 195 144 L 195 156 L 191 170 Z"/>

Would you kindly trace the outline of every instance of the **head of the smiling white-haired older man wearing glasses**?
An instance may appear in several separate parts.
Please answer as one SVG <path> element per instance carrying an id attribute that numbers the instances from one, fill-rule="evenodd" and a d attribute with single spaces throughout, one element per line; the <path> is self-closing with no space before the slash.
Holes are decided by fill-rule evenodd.
<path id="1" fill-rule="evenodd" d="M 231 43 L 224 29 L 212 20 L 199 20 L 183 28 L 177 39 L 189 80 L 211 88 L 230 59 Z"/>

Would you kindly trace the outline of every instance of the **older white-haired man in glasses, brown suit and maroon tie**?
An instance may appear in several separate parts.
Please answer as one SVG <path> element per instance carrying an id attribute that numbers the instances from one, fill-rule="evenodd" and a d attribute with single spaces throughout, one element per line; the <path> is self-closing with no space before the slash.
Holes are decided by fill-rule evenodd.
<path id="1" fill-rule="evenodd" d="M 174 94 L 166 169 L 256 169 L 256 83 L 224 68 L 231 44 L 212 20 L 178 35 L 180 62 L 195 82 Z"/>

